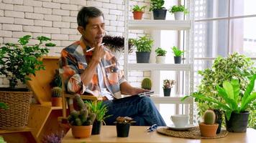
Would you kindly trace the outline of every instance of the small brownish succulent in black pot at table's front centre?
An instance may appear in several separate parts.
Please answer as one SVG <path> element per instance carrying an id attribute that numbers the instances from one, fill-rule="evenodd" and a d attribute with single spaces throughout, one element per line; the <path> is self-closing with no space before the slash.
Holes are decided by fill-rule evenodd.
<path id="1" fill-rule="evenodd" d="M 135 123 L 135 121 L 130 117 L 117 117 L 115 123 L 117 137 L 128 137 L 129 127 L 132 123 Z"/>

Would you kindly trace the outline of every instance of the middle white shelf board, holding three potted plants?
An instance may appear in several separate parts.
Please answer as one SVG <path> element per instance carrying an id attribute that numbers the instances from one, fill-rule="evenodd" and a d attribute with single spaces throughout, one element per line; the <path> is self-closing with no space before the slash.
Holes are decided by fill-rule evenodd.
<path id="1" fill-rule="evenodd" d="M 128 70 L 190 71 L 191 64 L 128 64 Z"/>

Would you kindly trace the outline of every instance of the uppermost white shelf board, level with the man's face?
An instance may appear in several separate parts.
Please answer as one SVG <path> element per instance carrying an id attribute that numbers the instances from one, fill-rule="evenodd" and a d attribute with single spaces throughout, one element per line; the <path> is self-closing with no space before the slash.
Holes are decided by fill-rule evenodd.
<path id="1" fill-rule="evenodd" d="M 129 29 L 189 30 L 189 20 L 129 20 Z"/>

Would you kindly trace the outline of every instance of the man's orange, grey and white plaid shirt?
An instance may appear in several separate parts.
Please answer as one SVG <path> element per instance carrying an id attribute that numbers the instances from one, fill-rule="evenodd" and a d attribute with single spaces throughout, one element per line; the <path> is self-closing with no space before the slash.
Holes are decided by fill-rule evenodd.
<path id="1" fill-rule="evenodd" d="M 83 82 L 81 82 L 80 74 L 86 69 L 93 54 L 93 51 L 86 52 L 90 48 L 90 46 L 86 46 L 81 37 L 80 41 L 76 41 L 61 51 L 60 68 L 64 70 L 65 87 L 70 93 L 83 94 L 88 92 L 94 96 L 100 96 L 101 89 L 99 87 L 97 68 L 92 71 L 93 78 L 88 86 L 84 86 Z M 111 54 L 109 49 L 105 48 L 104 50 L 106 54 L 99 63 L 104 77 L 104 84 L 112 96 L 119 99 L 121 98 L 120 84 L 126 82 L 126 79 L 124 79 L 124 73 L 119 69 L 114 55 Z"/>

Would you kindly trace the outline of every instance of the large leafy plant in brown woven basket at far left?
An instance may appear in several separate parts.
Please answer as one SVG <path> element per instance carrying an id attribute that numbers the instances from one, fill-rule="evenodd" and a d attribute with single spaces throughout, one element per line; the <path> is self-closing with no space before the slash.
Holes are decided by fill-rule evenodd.
<path id="1" fill-rule="evenodd" d="M 0 101 L 5 102 L 9 109 L 0 112 L 1 129 L 23 129 L 27 124 L 29 101 L 32 92 L 17 87 L 18 81 L 26 83 L 29 75 L 44 69 L 40 57 L 49 51 L 46 46 L 55 46 L 45 36 L 38 36 L 38 44 L 29 46 L 29 35 L 19 38 L 19 44 L 6 43 L 0 48 L 0 74 L 9 80 L 9 87 L 0 88 Z"/>

